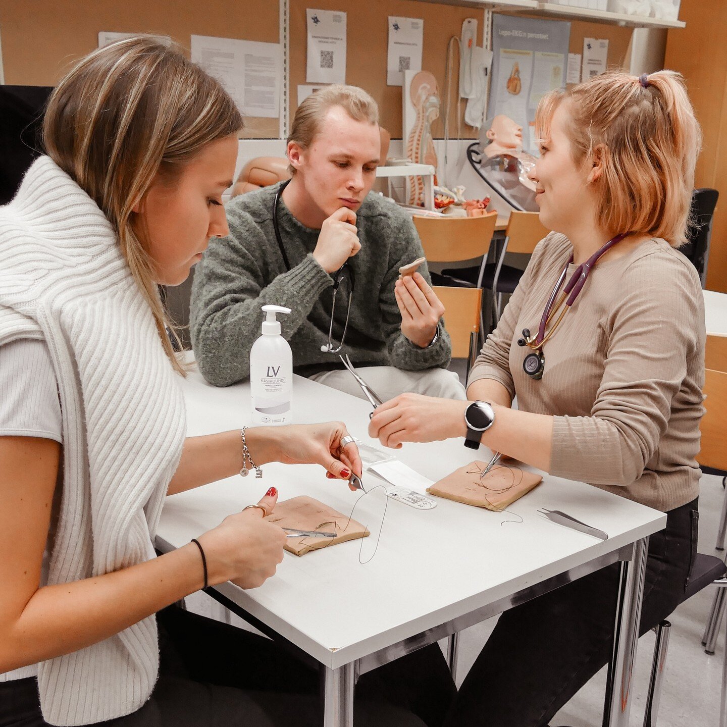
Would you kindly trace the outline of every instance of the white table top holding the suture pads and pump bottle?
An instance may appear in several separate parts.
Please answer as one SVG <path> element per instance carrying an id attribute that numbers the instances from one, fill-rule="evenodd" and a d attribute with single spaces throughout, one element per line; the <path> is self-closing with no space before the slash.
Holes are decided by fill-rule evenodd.
<path id="1" fill-rule="evenodd" d="M 217 389 L 198 373 L 183 384 L 188 435 L 240 427 L 249 422 L 249 385 Z M 297 422 L 342 419 L 353 435 L 366 435 L 369 405 L 316 382 L 295 377 Z M 436 480 L 474 459 L 461 440 L 406 444 L 397 456 Z M 478 459 L 489 459 L 481 449 Z M 158 529 L 162 550 L 180 547 L 216 526 L 228 513 L 262 497 L 270 486 L 279 501 L 309 494 L 350 513 L 361 497 L 345 483 L 325 478 L 321 467 L 265 465 L 262 480 L 239 476 L 183 492 L 166 500 Z M 364 483 L 377 482 L 364 474 Z M 355 518 L 376 537 L 382 507 L 369 496 Z M 438 499 L 433 510 L 414 510 L 388 499 L 378 550 L 359 563 L 361 541 L 350 541 L 301 558 L 286 553 L 275 577 L 262 587 L 218 589 L 249 614 L 335 669 L 431 627 L 518 593 L 602 555 L 613 553 L 664 527 L 666 516 L 583 483 L 545 476 L 507 513 L 491 513 Z M 538 507 L 564 510 L 605 530 L 601 542 L 547 521 Z M 366 543 L 366 555 L 372 543 Z M 364 558 L 365 559 L 365 558 Z"/>

